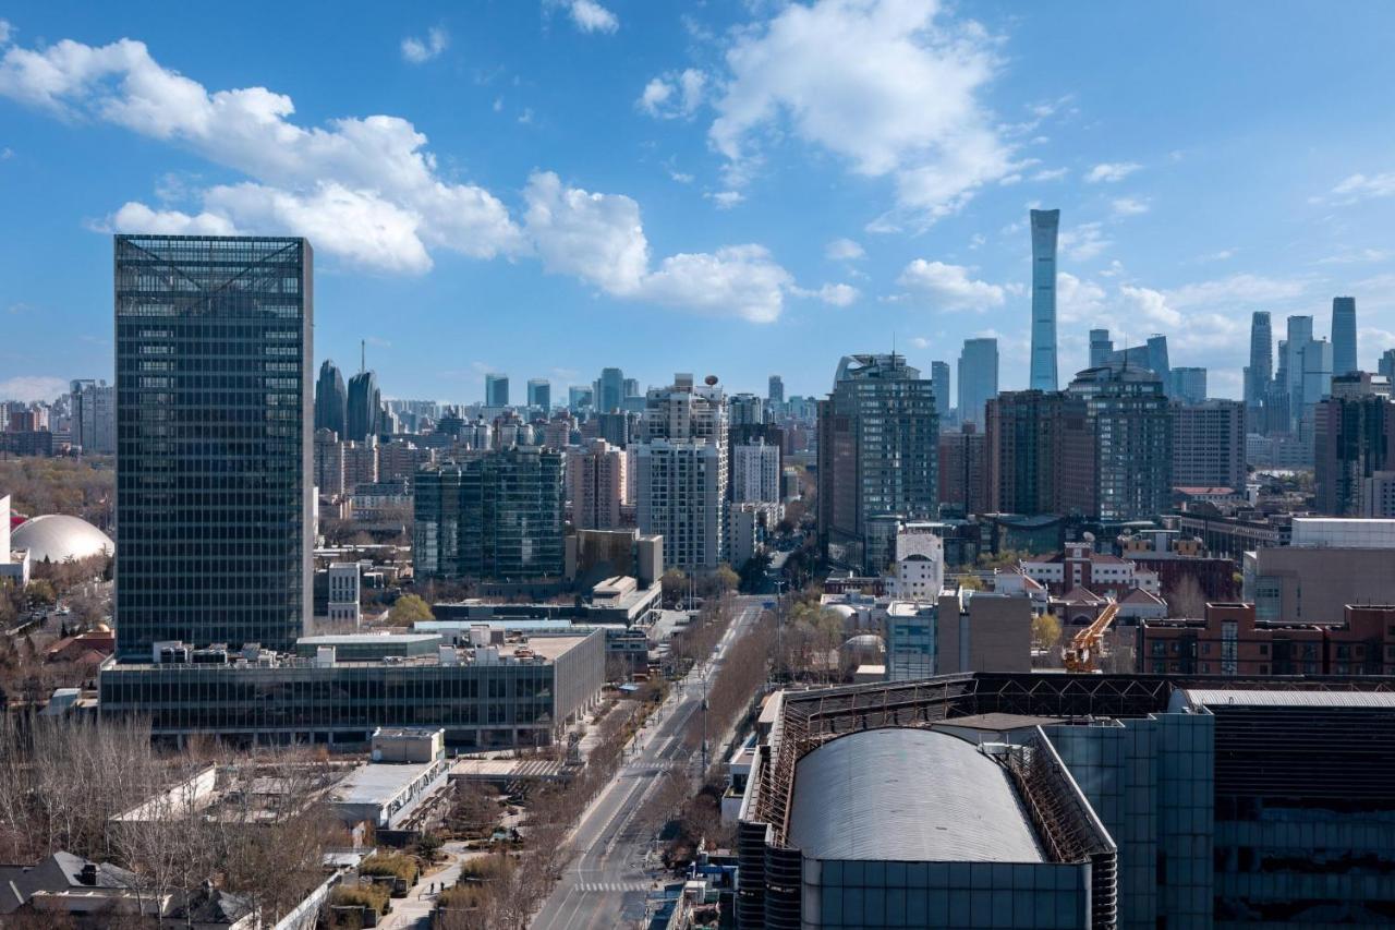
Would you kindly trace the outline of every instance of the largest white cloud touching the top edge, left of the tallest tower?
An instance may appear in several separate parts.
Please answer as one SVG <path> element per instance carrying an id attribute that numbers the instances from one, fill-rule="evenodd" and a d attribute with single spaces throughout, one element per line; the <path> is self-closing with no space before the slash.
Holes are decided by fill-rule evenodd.
<path id="1" fill-rule="evenodd" d="M 993 77 L 992 40 L 935 3 L 788 4 L 738 32 L 727 66 L 709 137 L 735 180 L 785 127 L 859 175 L 893 177 L 898 212 L 922 223 L 1013 173 L 978 99 Z"/>

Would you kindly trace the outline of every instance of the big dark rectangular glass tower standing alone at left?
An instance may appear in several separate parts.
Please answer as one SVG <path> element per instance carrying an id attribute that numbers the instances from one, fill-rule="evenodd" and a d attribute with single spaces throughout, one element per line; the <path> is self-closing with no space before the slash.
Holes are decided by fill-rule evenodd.
<path id="1" fill-rule="evenodd" d="M 290 651 L 310 621 L 311 256 L 304 239 L 116 236 L 123 659 L 169 640 Z"/>

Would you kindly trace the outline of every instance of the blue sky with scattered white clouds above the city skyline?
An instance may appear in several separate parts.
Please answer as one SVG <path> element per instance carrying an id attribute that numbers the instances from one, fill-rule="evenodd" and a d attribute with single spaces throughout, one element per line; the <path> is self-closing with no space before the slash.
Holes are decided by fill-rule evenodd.
<path id="1" fill-rule="evenodd" d="M 1166 332 L 1235 397 L 1253 310 L 1395 346 L 1395 4 L 0 4 L 0 395 L 110 377 L 110 239 L 317 250 L 315 356 L 820 394 L 996 334 L 1060 208 L 1062 378 Z"/>

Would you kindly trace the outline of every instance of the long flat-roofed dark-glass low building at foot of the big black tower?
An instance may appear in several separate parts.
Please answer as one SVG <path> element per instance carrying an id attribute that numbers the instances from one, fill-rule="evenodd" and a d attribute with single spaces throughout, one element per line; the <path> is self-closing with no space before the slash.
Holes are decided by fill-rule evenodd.
<path id="1" fill-rule="evenodd" d="M 352 637 L 350 637 L 352 638 Z M 600 697 L 605 634 L 340 660 L 254 648 L 166 647 L 169 662 L 117 662 L 98 677 L 103 716 L 138 714 L 155 737 L 367 743 L 378 728 L 438 726 L 460 748 L 545 746 Z M 331 647 L 326 647 L 326 649 Z"/>

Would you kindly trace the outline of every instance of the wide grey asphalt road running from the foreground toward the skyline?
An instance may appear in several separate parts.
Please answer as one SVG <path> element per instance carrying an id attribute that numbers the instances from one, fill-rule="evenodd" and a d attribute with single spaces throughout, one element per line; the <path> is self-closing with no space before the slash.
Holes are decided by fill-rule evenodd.
<path id="1" fill-rule="evenodd" d="M 711 658 L 674 686 L 668 700 L 626 748 L 626 761 L 572 832 L 572 862 L 533 919 L 533 930 L 591 930 L 633 924 L 644 916 L 653 878 L 644 870 L 649 835 L 635 824 L 656 775 L 691 765 L 682 732 L 703 701 L 703 679 L 721 667 L 727 651 L 760 616 L 760 596 L 737 599 L 738 613 Z"/>

